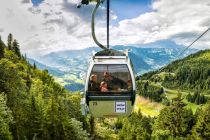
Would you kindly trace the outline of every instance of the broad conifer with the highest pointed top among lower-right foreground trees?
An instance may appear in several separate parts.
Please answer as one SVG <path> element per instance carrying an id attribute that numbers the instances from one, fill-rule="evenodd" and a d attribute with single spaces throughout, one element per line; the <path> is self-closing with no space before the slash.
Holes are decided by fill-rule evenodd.
<path id="1" fill-rule="evenodd" d="M 154 139 L 184 138 L 193 125 L 192 110 L 186 109 L 181 95 L 172 100 L 172 105 L 160 111 L 153 125 Z"/>

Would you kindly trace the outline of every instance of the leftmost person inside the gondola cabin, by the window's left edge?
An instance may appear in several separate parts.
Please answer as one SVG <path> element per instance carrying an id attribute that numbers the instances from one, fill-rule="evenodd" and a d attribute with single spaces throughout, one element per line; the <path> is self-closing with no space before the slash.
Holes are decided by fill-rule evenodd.
<path id="1" fill-rule="evenodd" d="M 92 74 L 90 76 L 90 82 L 88 85 L 89 91 L 100 91 L 100 84 L 97 82 L 97 75 Z"/>

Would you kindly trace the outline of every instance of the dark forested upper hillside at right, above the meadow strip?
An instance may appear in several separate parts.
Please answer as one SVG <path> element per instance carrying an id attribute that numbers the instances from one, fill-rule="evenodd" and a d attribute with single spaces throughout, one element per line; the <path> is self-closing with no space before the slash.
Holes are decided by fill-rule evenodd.
<path id="1" fill-rule="evenodd" d="M 167 88 L 210 94 L 210 50 L 199 51 L 139 78 L 161 82 Z"/>

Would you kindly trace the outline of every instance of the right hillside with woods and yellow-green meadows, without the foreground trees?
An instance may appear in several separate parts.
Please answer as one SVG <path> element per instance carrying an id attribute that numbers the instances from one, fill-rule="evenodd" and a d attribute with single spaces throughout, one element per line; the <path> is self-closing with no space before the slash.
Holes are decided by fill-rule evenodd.
<path id="1" fill-rule="evenodd" d="M 146 108 L 154 101 L 159 102 L 157 103 L 159 106 L 169 105 L 177 94 L 181 94 L 183 102 L 187 104 L 186 107 L 195 113 L 197 108 L 210 99 L 210 50 L 174 61 L 137 79 L 140 79 L 137 81 L 138 93 L 148 102 L 145 104 Z M 157 111 L 156 106 L 154 108 L 149 106 L 150 109 L 145 110 L 145 105 L 141 105 L 141 102 L 137 100 L 136 104 L 144 114 L 150 116 L 159 114 L 160 110 Z"/>

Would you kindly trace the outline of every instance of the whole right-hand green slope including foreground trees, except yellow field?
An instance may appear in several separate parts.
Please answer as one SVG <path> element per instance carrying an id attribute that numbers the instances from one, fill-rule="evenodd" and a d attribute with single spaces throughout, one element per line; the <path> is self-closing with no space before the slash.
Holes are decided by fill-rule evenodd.
<path id="1" fill-rule="evenodd" d="M 161 102 L 164 108 L 155 118 L 142 116 L 139 112 L 119 119 L 120 138 L 209 139 L 210 50 L 137 77 L 137 89 L 139 95 L 151 102 Z"/>

